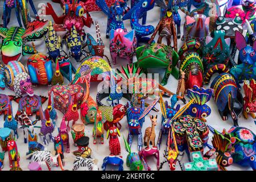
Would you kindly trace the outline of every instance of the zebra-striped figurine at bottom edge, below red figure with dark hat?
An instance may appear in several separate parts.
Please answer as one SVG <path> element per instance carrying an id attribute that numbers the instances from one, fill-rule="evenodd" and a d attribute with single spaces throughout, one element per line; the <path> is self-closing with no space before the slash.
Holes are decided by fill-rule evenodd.
<path id="1" fill-rule="evenodd" d="M 91 158 L 82 158 L 76 156 L 76 159 L 73 163 L 73 171 L 98 171 L 99 168 L 96 164 L 96 159 Z"/>

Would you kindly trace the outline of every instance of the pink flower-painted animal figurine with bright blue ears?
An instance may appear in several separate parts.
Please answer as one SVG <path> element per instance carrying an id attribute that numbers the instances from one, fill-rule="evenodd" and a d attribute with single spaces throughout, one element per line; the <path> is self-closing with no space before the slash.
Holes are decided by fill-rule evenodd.
<path id="1" fill-rule="evenodd" d="M 110 55 L 113 60 L 113 64 L 116 63 L 117 57 L 126 58 L 129 64 L 133 63 L 133 55 L 137 47 L 137 38 L 135 36 L 135 31 L 131 30 L 129 32 L 118 28 L 117 30 L 110 31 Z"/>

